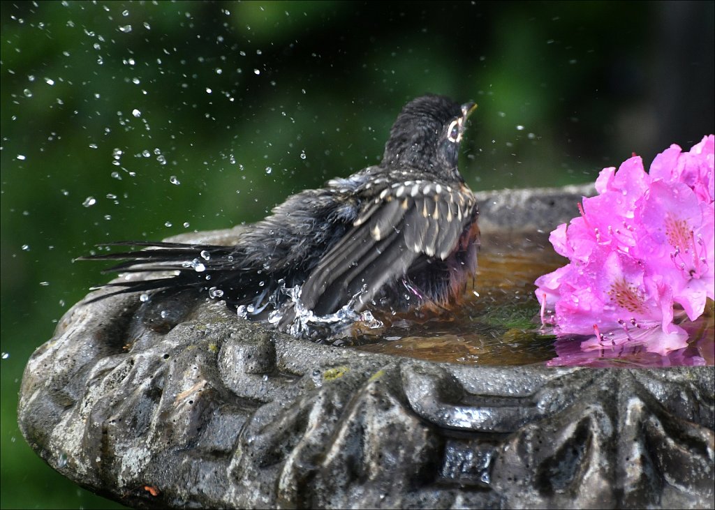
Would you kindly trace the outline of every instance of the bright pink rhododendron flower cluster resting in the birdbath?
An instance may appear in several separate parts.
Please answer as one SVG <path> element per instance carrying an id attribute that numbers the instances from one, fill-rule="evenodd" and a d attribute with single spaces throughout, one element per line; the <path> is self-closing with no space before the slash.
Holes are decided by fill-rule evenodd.
<path id="1" fill-rule="evenodd" d="M 674 304 L 694 320 L 715 299 L 714 142 L 673 145 L 649 173 L 638 156 L 601 171 L 581 216 L 551 232 L 570 263 L 536 280 L 544 324 L 593 335 L 583 350 L 684 349 Z"/>

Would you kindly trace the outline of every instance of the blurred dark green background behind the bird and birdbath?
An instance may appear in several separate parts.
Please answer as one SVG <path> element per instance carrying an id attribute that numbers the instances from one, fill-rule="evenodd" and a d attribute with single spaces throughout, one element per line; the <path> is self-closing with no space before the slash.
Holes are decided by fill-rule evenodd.
<path id="1" fill-rule="evenodd" d="M 714 124 L 714 3 L 2 2 L 1 501 L 113 508 L 26 445 L 31 352 L 101 241 L 265 216 L 380 158 L 435 92 L 479 109 L 472 189 L 592 181 Z"/>

